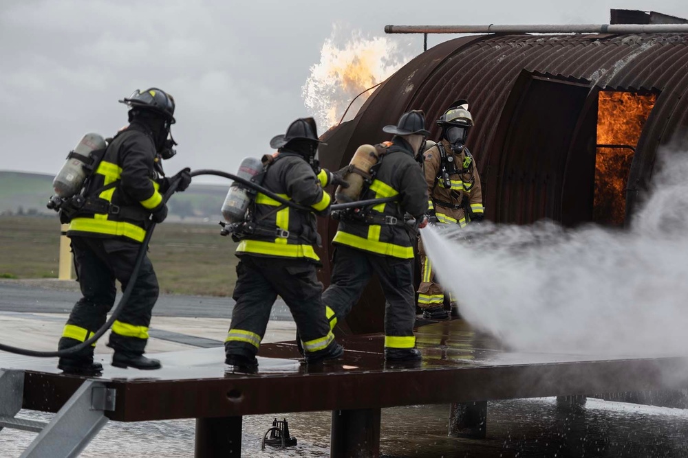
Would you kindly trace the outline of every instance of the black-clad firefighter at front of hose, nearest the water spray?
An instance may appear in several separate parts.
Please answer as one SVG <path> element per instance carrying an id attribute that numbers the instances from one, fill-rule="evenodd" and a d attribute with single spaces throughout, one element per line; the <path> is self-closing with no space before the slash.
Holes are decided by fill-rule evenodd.
<path id="1" fill-rule="evenodd" d="M 398 196 L 392 203 L 378 204 L 367 211 L 341 214 L 332 241 L 335 245 L 332 282 L 323 293 L 330 327 L 345 317 L 358 301 L 372 273 L 385 293 L 385 359 L 418 360 L 413 325 L 416 304 L 413 293 L 413 242 L 416 227 L 427 218 L 427 186 L 418 165 L 425 137 L 422 111 L 402 115 L 396 126 L 383 131 L 394 134 L 372 169 L 372 182 L 361 199 Z M 405 225 L 405 214 L 415 218 L 415 227 Z"/>

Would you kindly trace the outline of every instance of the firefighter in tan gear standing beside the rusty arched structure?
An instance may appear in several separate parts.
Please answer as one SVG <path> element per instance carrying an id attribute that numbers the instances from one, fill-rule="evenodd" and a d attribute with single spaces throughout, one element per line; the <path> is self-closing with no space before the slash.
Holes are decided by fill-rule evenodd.
<path id="1" fill-rule="evenodd" d="M 466 227 L 469 222 L 481 221 L 484 214 L 480 175 L 475 159 L 466 148 L 466 137 L 473 126 L 468 102 L 460 100 L 451 105 L 437 122 L 442 128 L 440 139 L 424 154 L 423 169 L 429 201 L 428 218 L 431 224 L 451 224 Z M 430 260 L 422 242 L 418 244 L 421 283 L 418 288 L 418 307 L 426 319 L 449 319 L 444 310 L 444 291 L 436 282 Z M 449 297 L 451 314 L 458 316 L 458 304 Z"/>

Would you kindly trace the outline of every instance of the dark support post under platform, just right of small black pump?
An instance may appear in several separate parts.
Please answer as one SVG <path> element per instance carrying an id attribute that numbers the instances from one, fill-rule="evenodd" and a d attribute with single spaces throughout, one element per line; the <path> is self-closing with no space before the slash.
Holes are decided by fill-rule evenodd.
<path id="1" fill-rule="evenodd" d="M 380 409 L 332 411 L 330 458 L 378 458 Z"/>

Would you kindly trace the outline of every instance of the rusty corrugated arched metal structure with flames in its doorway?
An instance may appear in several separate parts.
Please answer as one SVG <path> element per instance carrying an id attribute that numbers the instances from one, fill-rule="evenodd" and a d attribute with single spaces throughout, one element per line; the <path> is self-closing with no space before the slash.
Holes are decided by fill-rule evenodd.
<path id="1" fill-rule="evenodd" d="M 343 167 L 361 144 L 389 139 L 383 126 L 409 109 L 422 109 L 437 137 L 434 120 L 459 98 L 475 119 L 468 146 L 488 219 L 623 225 L 659 148 L 688 140 L 688 34 L 490 34 L 441 43 L 391 76 L 352 121 L 325 133 L 321 162 Z M 605 219 L 612 207 L 616 219 Z M 332 240 L 337 222 L 321 225 L 323 240 Z M 325 244 L 323 260 L 330 252 Z M 347 319 L 351 332 L 382 330 L 375 283 Z"/>

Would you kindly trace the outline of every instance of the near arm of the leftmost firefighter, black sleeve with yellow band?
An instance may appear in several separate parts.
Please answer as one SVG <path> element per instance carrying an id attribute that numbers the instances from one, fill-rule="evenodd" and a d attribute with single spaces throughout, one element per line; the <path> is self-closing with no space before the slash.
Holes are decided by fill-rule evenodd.
<path id="1" fill-rule="evenodd" d="M 155 212 L 164 205 L 160 185 L 151 179 L 155 146 L 146 135 L 134 135 L 122 145 L 122 191 L 138 201 L 144 208 Z"/>

